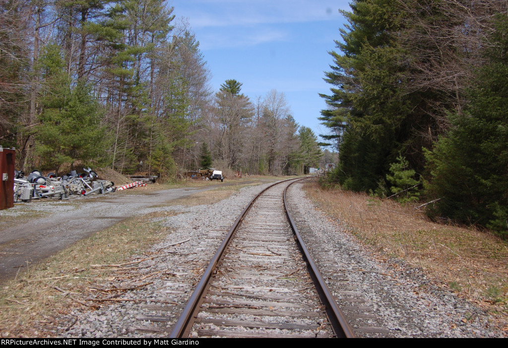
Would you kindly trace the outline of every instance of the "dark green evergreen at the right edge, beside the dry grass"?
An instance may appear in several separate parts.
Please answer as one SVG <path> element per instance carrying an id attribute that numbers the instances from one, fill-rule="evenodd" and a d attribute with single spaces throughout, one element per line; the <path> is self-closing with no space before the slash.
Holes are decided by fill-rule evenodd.
<path id="1" fill-rule="evenodd" d="M 508 233 L 508 20 L 497 15 L 464 115 L 428 153 L 428 193 L 441 198 L 431 215 Z"/>

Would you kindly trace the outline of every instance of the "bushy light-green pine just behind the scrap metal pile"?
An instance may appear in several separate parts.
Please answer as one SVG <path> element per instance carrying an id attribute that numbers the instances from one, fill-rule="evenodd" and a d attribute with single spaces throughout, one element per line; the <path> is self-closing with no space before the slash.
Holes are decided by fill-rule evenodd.
<path id="1" fill-rule="evenodd" d="M 43 111 L 36 129 L 37 153 L 45 165 L 58 171 L 61 164 L 80 160 L 97 164 L 104 158 L 106 134 L 102 115 L 90 89 L 82 82 L 71 86 L 60 56 L 60 47 L 49 45 L 40 59 L 45 83 L 41 97 Z"/>

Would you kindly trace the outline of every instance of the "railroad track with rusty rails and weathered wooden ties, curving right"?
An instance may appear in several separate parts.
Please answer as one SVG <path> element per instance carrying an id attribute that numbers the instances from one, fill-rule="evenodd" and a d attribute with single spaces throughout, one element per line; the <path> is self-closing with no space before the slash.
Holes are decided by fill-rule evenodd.
<path id="1" fill-rule="evenodd" d="M 285 209 L 295 181 L 243 210 L 171 337 L 354 337 Z"/>

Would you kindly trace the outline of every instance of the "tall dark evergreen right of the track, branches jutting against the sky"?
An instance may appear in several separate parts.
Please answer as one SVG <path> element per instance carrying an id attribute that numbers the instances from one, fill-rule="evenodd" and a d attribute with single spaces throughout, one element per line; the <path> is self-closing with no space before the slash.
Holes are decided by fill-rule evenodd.
<path id="1" fill-rule="evenodd" d="M 421 125 L 414 114 L 418 96 L 403 88 L 407 64 L 397 38 L 403 11 L 392 0 L 357 0 L 351 8 L 343 12 L 350 23 L 341 29 L 343 43 L 336 41 L 342 54 L 330 52 L 334 65 L 325 81 L 334 87 L 321 95 L 329 109 L 320 119 L 332 131 L 325 139 L 339 147 L 332 179 L 368 191 L 399 153 L 410 152 L 410 165 L 423 166 L 422 151 L 409 151 Z"/>

